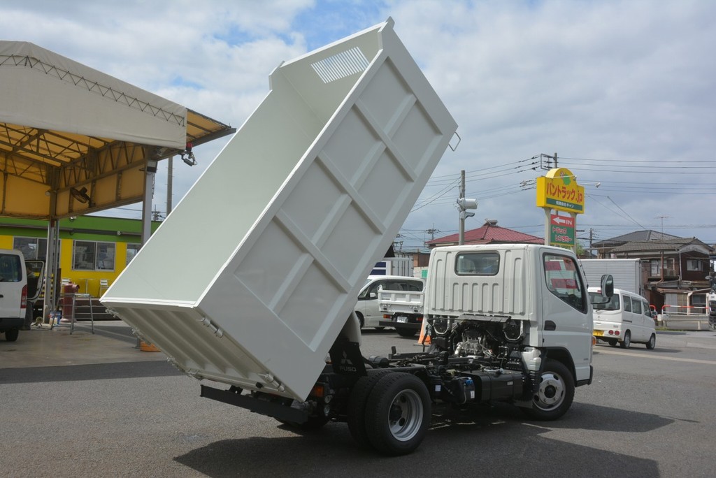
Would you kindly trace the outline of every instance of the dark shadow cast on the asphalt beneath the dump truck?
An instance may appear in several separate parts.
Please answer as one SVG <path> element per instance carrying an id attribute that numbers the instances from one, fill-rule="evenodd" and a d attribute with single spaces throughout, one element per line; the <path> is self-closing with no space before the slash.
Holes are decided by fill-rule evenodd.
<path id="1" fill-rule="evenodd" d="M 572 411 L 568 415 L 571 414 Z M 526 469 L 531 477 L 607 477 L 613 476 L 615 469 L 630 477 L 659 476 L 658 464 L 653 460 L 543 435 L 560 429 L 641 433 L 673 420 L 591 405 L 580 405 L 574 415 L 556 422 L 526 422 L 521 412 L 511 406 L 485 407 L 478 414 L 435 415 L 420 448 L 405 457 L 384 457 L 359 448 L 345 424 L 331 423 L 321 430 L 303 433 L 279 425 L 279 429 L 295 435 L 221 440 L 193 449 L 175 461 L 209 477 L 267 473 L 445 477 L 475 469 L 490 477 L 524 476 Z M 606 424 L 605 416 L 610 417 Z M 609 467 L 604 467 L 605 463 Z"/>

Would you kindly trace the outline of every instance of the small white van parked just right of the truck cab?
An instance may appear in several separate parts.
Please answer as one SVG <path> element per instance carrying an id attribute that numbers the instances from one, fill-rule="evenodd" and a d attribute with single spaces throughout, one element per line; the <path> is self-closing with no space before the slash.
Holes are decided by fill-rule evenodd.
<path id="1" fill-rule="evenodd" d="M 657 344 L 657 331 L 647 299 L 629 291 L 614 289 L 608 302 L 601 298 L 599 288 L 589 288 L 594 309 L 594 336 L 615 347 L 629 348 L 632 342 L 646 344 L 652 349 Z"/>

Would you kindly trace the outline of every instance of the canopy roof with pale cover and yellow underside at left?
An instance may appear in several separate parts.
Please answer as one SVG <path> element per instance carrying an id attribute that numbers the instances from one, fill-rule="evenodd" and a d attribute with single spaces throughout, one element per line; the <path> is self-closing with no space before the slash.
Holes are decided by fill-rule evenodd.
<path id="1" fill-rule="evenodd" d="M 235 131 L 32 43 L 0 41 L 0 84 L 4 216 L 62 218 L 137 203 L 147 162 Z"/>

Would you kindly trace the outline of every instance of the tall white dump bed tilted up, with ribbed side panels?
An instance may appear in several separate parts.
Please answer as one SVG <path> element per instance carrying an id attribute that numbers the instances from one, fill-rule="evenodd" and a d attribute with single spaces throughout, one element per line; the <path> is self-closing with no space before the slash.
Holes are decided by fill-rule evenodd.
<path id="1" fill-rule="evenodd" d="M 303 400 L 457 125 L 391 19 L 270 85 L 102 303 L 190 375 Z"/>

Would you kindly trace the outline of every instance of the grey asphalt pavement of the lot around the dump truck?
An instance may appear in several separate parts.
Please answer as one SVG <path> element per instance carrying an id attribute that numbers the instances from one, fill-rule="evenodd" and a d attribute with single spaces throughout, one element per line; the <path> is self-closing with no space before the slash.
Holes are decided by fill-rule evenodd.
<path id="1" fill-rule="evenodd" d="M 299 433 L 199 396 L 124 323 L 0 337 L 0 475 L 8 477 L 710 477 L 716 333 L 659 332 L 657 348 L 595 347 L 595 381 L 566 416 L 514 407 L 435 416 L 406 457 L 358 449 L 345 424 Z M 364 353 L 415 347 L 364 331 Z"/>

